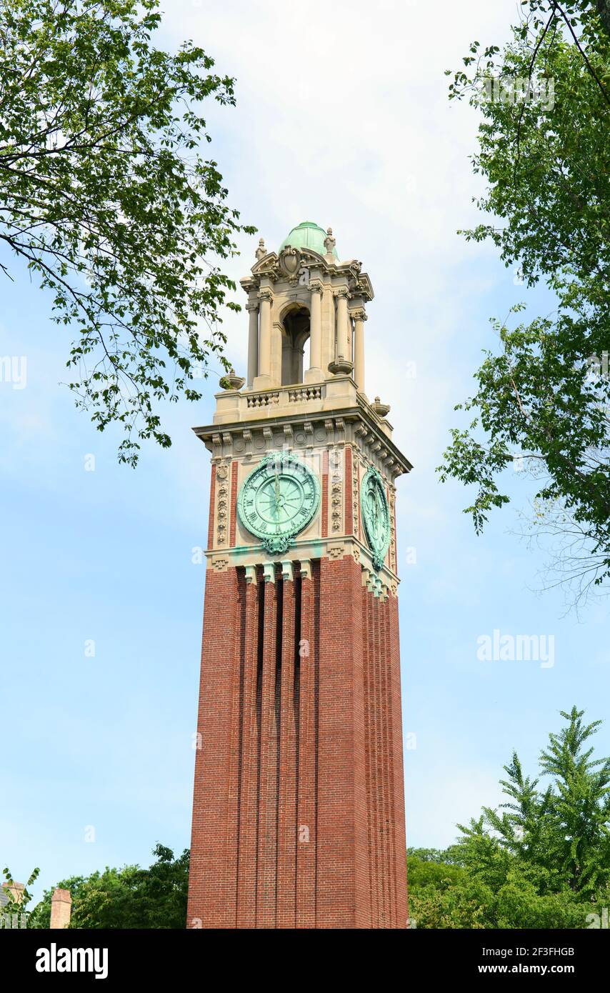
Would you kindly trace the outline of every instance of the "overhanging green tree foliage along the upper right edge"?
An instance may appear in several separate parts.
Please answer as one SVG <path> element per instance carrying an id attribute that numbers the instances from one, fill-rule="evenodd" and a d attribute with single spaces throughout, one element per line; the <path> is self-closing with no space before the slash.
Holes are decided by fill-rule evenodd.
<path id="1" fill-rule="evenodd" d="M 462 233 L 491 239 L 557 306 L 492 322 L 499 348 L 456 408 L 475 416 L 439 473 L 476 488 L 465 512 L 480 532 L 519 459 L 536 481 L 532 533 L 551 535 L 555 580 L 579 602 L 610 576 L 610 26 L 605 0 L 522 8 L 511 43 L 473 43 L 450 84 L 482 116 L 473 166 L 490 215 Z"/>

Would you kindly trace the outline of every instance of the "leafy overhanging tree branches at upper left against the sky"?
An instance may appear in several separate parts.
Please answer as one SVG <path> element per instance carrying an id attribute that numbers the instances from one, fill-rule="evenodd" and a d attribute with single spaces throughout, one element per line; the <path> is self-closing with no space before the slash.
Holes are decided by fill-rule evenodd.
<path id="1" fill-rule="evenodd" d="M 192 42 L 151 44 L 158 0 L 0 6 L 0 267 L 24 262 L 76 333 L 76 406 L 122 426 L 119 459 L 171 440 L 159 403 L 198 400 L 234 289 L 220 263 L 243 230 L 199 105 L 234 80 Z M 4 258 L 4 261 L 3 261 Z"/>

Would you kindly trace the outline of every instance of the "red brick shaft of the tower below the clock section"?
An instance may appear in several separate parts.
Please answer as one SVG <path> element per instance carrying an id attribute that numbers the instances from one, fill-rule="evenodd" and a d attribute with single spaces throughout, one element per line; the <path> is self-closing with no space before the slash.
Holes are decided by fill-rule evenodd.
<path id="1" fill-rule="evenodd" d="M 189 926 L 404 927 L 395 598 L 257 578 L 207 577 Z"/>

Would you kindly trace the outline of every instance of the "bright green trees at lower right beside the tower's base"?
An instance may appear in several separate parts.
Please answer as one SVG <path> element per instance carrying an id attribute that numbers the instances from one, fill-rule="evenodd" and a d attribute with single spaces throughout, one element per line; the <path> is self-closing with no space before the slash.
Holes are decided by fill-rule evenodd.
<path id="1" fill-rule="evenodd" d="M 409 914 L 417 927 L 587 927 L 610 901 L 610 759 L 593 759 L 600 722 L 583 711 L 540 753 L 540 777 L 514 754 L 507 801 L 484 807 L 446 852 L 408 856 Z"/>

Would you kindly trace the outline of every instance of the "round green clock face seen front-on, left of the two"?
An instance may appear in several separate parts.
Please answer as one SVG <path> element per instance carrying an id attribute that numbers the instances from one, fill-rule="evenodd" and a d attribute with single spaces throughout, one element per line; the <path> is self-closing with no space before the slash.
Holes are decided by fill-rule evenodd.
<path id="1" fill-rule="evenodd" d="M 320 505 L 320 484 L 307 466 L 287 452 L 272 452 L 250 473 L 237 497 L 244 527 L 271 555 L 285 552 Z"/>

